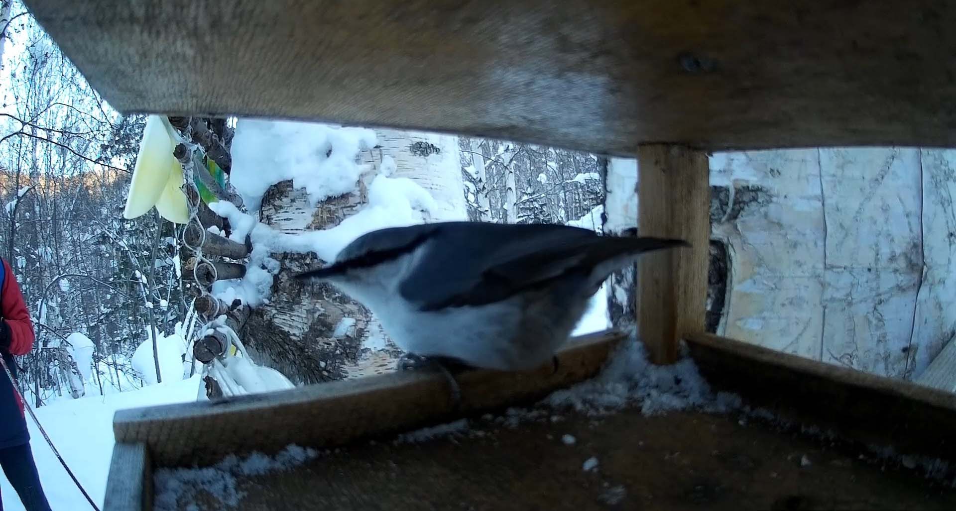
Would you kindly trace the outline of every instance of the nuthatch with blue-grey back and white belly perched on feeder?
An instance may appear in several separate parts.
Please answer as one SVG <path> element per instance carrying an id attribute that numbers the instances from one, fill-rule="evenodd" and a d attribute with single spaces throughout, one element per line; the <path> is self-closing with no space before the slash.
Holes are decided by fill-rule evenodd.
<path id="1" fill-rule="evenodd" d="M 419 224 L 362 235 L 296 278 L 328 281 L 370 309 L 407 352 L 402 369 L 524 371 L 554 357 L 614 270 L 674 246 L 688 244 L 553 224 Z"/>

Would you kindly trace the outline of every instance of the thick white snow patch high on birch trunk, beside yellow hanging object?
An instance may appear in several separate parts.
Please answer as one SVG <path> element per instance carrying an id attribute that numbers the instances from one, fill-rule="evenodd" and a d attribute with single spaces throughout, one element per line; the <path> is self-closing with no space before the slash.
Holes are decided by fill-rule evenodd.
<path id="1" fill-rule="evenodd" d="M 273 183 L 286 180 L 305 188 L 315 204 L 354 190 L 359 152 L 376 143 L 366 128 L 243 118 L 232 138 L 229 179 L 250 211 L 259 209 Z"/>

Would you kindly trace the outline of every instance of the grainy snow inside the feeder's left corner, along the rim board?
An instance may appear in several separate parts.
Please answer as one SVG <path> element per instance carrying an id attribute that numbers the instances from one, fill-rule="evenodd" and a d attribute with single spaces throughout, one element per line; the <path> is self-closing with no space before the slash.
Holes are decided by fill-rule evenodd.
<path id="1" fill-rule="evenodd" d="M 315 449 L 292 444 L 274 457 L 252 453 L 244 458 L 229 456 L 211 467 L 161 468 L 153 476 L 156 492 L 154 509 L 182 509 L 181 503 L 194 500 L 200 490 L 208 492 L 226 506 L 235 507 L 245 496 L 236 483 L 236 477 L 289 470 L 317 457 Z M 195 508 L 194 505 L 192 507 Z"/>

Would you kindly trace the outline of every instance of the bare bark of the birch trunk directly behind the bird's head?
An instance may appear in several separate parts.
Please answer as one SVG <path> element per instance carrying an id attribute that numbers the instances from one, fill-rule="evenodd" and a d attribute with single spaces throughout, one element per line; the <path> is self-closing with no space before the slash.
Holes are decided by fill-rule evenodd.
<path id="1" fill-rule="evenodd" d="M 368 202 L 368 186 L 389 159 L 395 162 L 392 177 L 416 181 L 437 202 L 438 211 L 427 221 L 467 219 L 457 138 L 396 130 L 376 135 L 379 146 L 360 156 L 366 169 L 355 192 L 314 208 L 304 190 L 283 181 L 263 198 L 261 222 L 289 234 L 333 227 Z M 293 280 L 319 263 L 315 255 L 273 257 L 283 271 L 275 276 L 271 303 L 253 310 L 244 336 L 256 360 L 299 385 L 394 370 L 401 351 L 368 309 L 335 287 Z"/>

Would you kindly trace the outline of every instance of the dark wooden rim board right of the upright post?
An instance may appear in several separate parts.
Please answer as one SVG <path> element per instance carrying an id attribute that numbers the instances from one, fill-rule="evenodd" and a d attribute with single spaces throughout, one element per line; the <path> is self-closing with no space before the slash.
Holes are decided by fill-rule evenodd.
<path id="1" fill-rule="evenodd" d="M 956 394 L 716 335 L 685 341 L 711 386 L 750 406 L 864 447 L 956 460 Z"/>

